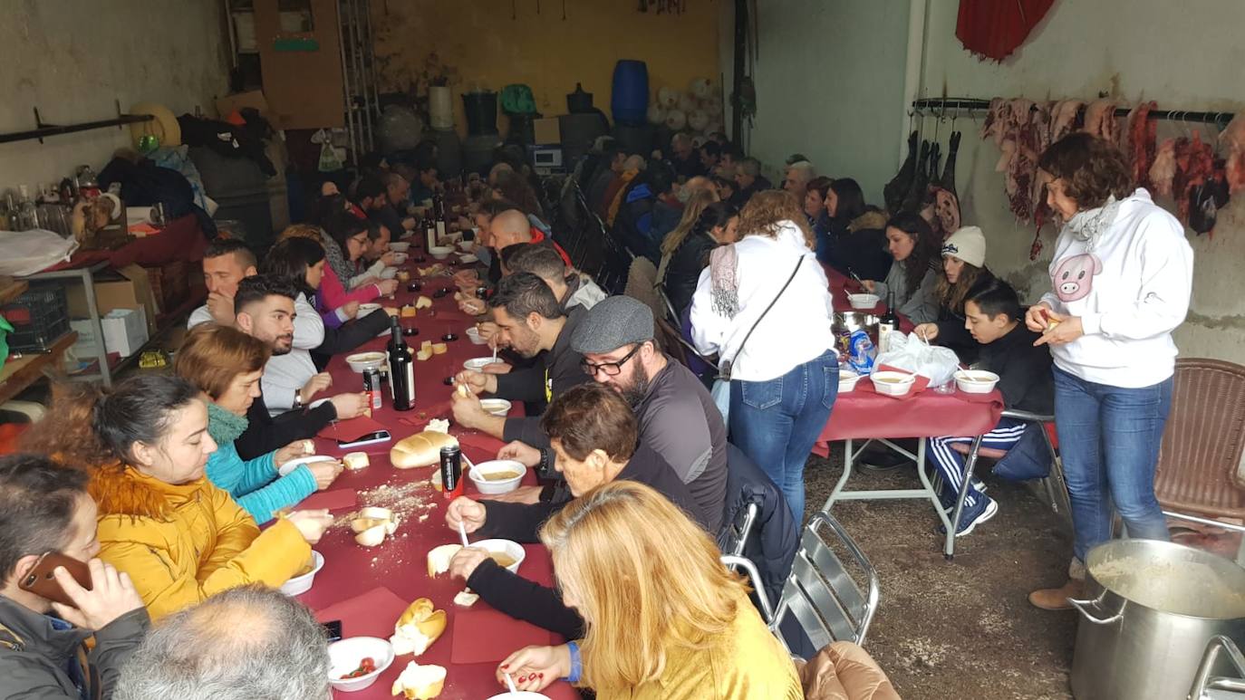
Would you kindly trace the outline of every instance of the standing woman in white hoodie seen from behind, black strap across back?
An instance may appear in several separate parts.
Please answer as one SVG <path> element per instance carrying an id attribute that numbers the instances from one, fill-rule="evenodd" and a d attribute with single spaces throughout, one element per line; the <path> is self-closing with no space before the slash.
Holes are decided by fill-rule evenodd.
<path id="1" fill-rule="evenodd" d="M 731 441 L 804 517 L 804 463 L 839 388 L 825 272 L 794 195 L 759 191 L 740 211 L 735 245 L 710 255 L 692 296 L 692 341 L 730 378 Z"/>

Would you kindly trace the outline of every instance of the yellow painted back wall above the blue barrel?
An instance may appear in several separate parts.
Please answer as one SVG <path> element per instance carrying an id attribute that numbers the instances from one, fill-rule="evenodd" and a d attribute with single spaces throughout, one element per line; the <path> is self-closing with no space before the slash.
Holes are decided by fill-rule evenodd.
<path id="1" fill-rule="evenodd" d="M 537 109 L 553 117 L 566 113 L 566 93 L 581 82 L 593 104 L 610 114 L 620 58 L 647 63 L 650 103 L 659 87 L 686 90 L 695 77 L 717 88 L 722 1 L 684 0 L 684 14 L 657 15 L 637 11 L 636 0 L 514 0 L 512 19 L 510 0 L 372 0 L 377 81 L 381 92 L 406 90 L 436 51 L 458 70 L 452 90 L 461 134 L 467 127 L 459 94 L 473 85 L 500 91 L 527 83 Z M 504 121 L 498 118 L 503 136 Z"/>

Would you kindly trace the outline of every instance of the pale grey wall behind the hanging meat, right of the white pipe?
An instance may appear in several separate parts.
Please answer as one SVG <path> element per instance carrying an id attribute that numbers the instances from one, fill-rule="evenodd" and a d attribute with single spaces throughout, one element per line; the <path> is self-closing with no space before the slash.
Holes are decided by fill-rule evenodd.
<path id="1" fill-rule="evenodd" d="M 944 86 L 949 96 L 987 98 L 1083 99 L 1101 91 L 1130 103 L 1155 99 L 1167 109 L 1245 109 L 1240 78 L 1245 4 L 1236 0 L 1059 0 L 1002 65 L 981 62 L 964 50 L 955 39 L 954 5 L 935 0 L 930 6 L 924 75 L 929 94 L 941 94 Z M 1159 139 L 1193 129 L 1201 131 L 1203 138 L 1214 136 L 1205 124 L 1159 122 Z M 957 184 L 964 221 L 986 231 L 989 265 L 1036 298 L 1048 288 L 1056 231 L 1043 230 L 1043 256 L 1030 264 L 1033 230 L 1017 226 L 1007 210 L 1002 177 L 994 172 L 997 148 L 967 133 L 961 147 Z M 1170 200 L 1160 204 L 1174 208 Z M 1188 236 L 1196 276 L 1189 320 L 1175 333 L 1180 352 L 1245 363 L 1245 282 L 1240 276 L 1245 196 L 1238 195 L 1220 213 L 1214 239 L 1193 231 Z"/>

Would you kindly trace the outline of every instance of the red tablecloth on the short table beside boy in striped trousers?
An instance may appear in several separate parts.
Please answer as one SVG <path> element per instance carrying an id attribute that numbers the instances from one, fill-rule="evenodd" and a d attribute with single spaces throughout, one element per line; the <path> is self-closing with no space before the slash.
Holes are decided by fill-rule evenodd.
<path id="1" fill-rule="evenodd" d="M 1002 394 L 987 397 L 939 394 L 926 389 L 910 399 L 899 400 L 873 390 L 868 378 L 855 389 L 834 400 L 830 420 L 813 446 L 825 456 L 833 440 L 868 438 L 936 438 L 939 435 L 980 435 L 998 424 L 1003 410 Z"/>

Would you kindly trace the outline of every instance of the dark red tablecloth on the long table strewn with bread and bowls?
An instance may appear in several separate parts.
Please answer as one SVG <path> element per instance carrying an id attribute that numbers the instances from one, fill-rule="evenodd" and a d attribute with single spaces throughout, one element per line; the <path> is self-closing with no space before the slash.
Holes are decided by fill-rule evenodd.
<path id="1" fill-rule="evenodd" d="M 421 255 L 412 246 L 412 256 Z M 432 260 L 420 264 L 431 265 Z M 415 274 L 416 264 L 408 261 L 405 267 Z M 423 290 L 417 292 L 432 296 L 438 288 L 451 288 L 453 282 L 448 277 L 433 277 L 423 281 Z M 380 300 L 383 303 L 403 303 L 411 301 L 417 293 L 406 292 L 406 285 L 400 286 L 396 302 Z M 433 356 L 426 362 L 416 362 L 416 403 L 415 410 L 398 413 L 391 408 L 388 397 L 385 397 L 385 405 L 374 412 L 372 418 L 385 425 L 392 434 L 393 440 L 398 440 L 418 433 L 423 429 L 430 418 L 449 415 L 451 388 L 443 384 L 446 377 L 453 375 L 462 368 L 462 362 L 471 357 L 488 354 L 486 346 L 473 346 L 467 339 L 466 329 L 472 325 L 472 320 L 459 312 L 453 302 L 453 296 L 435 300 L 435 316 L 428 311 L 421 311 L 416 318 L 403 320 L 406 326 L 416 326 L 420 334 L 408 337 L 407 342 L 413 349 L 418 349 L 420 342 L 430 339 L 441 342 L 444 333 L 456 333 L 459 339 L 449 343 L 448 352 Z M 380 312 L 377 312 L 380 313 Z M 385 348 L 385 339 L 377 338 L 369 342 L 357 352 Z M 412 353 L 413 353 L 412 349 Z M 362 377 L 351 372 L 344 357 L 336 357 L 329 364 L 332 374 L 332 392 L 361 390 Z M 518 410 L 518 409 L 515 409 Z M 459 435 L 463 451 L 472 461 L 494 459 L 497 449 L 502 441 L 471 430 L 463 431 L 452 428 L 451 433 Z M 355 489 L 359 492 L 359 506 L 372 505 L 369 502 L 369 490 L 381 485 L 403 485 L 411 481 L 426 481 L 436 467 L 422 467 L 411 470 L 396 470 L 390 465 L 388 450 L 392 443 L 369 445 L 364 450 L 370 455 L 371 465 L 360 471 L 346 471 L 334 482 L 332 489 Z M 341 455 L 342 450 L 336 444 L 324 438 L 316 439 L 316 449 L 320 454 Z M 529 482 L 535 482 L 532 472 L 528 472 Z M 474 492 L 471 481 L 467 482 L 467 492 Z M 555 638 L 539 637 L 543 633 L 534 628 L 525 629 L 509 619 L 499 619 L 500 615 L 486 614 L 492 609 L 483 601 L 477 602 L 473 608 L 466 609 L 453 604 L 456 593 L 463 589 L 463 582 L 451 579 L 447 576 L 430 578 L 427 574 L 427 552 L 437 545 L 457 542 L 458 536 L 444 525 L 444 500 L 439 492 L 431 486 L 416 491 L 416 497 L 426 502 L 435 504 L 435 507 L 425 510 L 416 509 L 398 527 L 397 532 L 387 538 L 378 547 L 362 547 L 354 540 L 354 535 L 347 527 L 337 527 L 330 531 L 315 546 L 315 550 L 324 555 L 324 568 L 316 576 L 315 586 L 311 591 L 299 597 L 314 610 L 326 610 L 330 614 L 341 614 L 342 633 L 346 637 L 374 635 L 388 637 L 393 633 L 393 623 L 397 620 L 392 609 L 396 607 L 391 596 L 377 588 L 387 588 L 398 598 L 410 603 L 416 598 L 430 598 L 438 609 L 444 609 L 448 615 L 448 624 L 444 634 L 432 644 L 421 656 L 398 656 L 393 664 L 381 674 L 380 679 L 371 686 L 357 693 L 335 693 L 335 696 L 345 700 L 369 700 L 390 698 L 390 688 L 393 679 L 406 668 L 407 663 L 416 660 L 420 664 L 437 664 L 448 670 L 442 699 L 471 699 L 479 700 L 489 698 L 503 689 L 494 679 L 497 663 L 502 656 L 497 649 L 496 637 L 502 635 L 514 639 L 514 649 L 528 643 L 549 643 Z M 346 515 L 349 510 L 337 511 L 335 515 Z M 519 573 L 525 578 L 549 584 L 553 581 L 553 567 L 549 555 L 540 545 L 528 545 L 527 558 L 519 567 Z M 330 606 L 349 602 L 361 594 L 370 594 L 362 604 Z M 370 602 L 378 601 L 374 607 Z M 388 602 L 387 604 L 385 602 Z M 344 610 L 340 612 L 339 610 Z M 401 613 L 401 609 L 397 610 Z M 456 624 L 459 615 L 471 619 L 471 624 Z M 383 618 L 383 619 L 377 619 Z M 468 637 L 467 639 L 461 638 Z M 456 637 L 459 637 L 456 639 Z M 462 658 L 464 648 L 482 648 L 484 652 L 478 655 L 497 656 L 496 660 L 454 664 L 454 658 Z M 452 654 L 458 650 L 459 653 Z M 545 690 L 545 695 L 554 699 L 578 698 L 574 689 L 565 683 L 558 683 Z"/>

